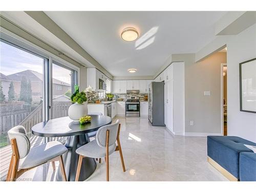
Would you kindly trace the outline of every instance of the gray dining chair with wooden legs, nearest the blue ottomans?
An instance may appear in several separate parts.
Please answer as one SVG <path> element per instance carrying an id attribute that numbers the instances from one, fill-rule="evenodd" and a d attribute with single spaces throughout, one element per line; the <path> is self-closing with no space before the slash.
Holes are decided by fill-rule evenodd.
<path id="1" fill-rule="evenodd" d="M 125 172 L 125 166 L 123 161 L 122 149 L 119 140 L 120 134 L 119 120 L 110 125 L 104 125 L 100 127 L 96 134 L 96 139 L 87 143 L 76 150 L 79 154 L 77 172 L 75 180 L 79 180 L 81 165 L 83 158 L 105 158 L 106 162 L 106 181 L 109 181 L 109 156 L 115 151 L 119 151 L 123 172 Z M 117 145 L 116 145 L 117 141 Z"/>

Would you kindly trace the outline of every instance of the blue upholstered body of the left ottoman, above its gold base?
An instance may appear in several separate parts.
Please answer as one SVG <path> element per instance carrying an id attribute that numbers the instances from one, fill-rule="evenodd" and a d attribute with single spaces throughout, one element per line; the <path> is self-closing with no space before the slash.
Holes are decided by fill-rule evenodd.
<path id="1" fill-rule="evenodd" d="M 256 146 L 256 143 L 240 137 L 208 136 L 207 155 L 239 179 L 239 154 L 240 152 L 252 152 L 244 144 Z"/>

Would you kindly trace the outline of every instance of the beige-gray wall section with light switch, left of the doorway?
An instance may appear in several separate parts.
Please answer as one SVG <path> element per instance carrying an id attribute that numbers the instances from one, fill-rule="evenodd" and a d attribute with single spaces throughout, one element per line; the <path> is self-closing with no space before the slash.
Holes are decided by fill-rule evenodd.
<path id="1" fill-rule="evenodd" d="M 186 133 L 221 133 L 221 63 L 226 63 L 226 53 L 186 63 Z M 211 95 L 204 96 L 204 91 Z"/>

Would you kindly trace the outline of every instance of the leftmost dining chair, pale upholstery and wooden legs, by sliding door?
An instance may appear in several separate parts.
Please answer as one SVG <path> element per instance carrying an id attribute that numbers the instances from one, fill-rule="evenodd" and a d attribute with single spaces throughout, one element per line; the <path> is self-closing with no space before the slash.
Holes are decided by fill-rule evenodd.
<path id="1" fill-rule="evenodd" d="M 28 170 L 41 164 L 52 162 L 55 170 L 55 161 L 59 161 L 62 178 L 67 181 L 62 155 L 68 149 L 58 141 L 50 141 L 30 148 L 30 141 L 24 126 L 18 125 L 8 131 L 12 146 L 12 157 L 6 181 L 15 181 Z"/>

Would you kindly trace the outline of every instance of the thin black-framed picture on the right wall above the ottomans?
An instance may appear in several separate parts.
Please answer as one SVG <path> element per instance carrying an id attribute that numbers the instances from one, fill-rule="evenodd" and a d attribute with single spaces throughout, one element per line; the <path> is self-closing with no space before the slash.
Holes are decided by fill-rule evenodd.
<path id="1" fill-rule="evenodd" d="M 240 111 L 256 113 L 256 58 L 239 63 Z"/>

